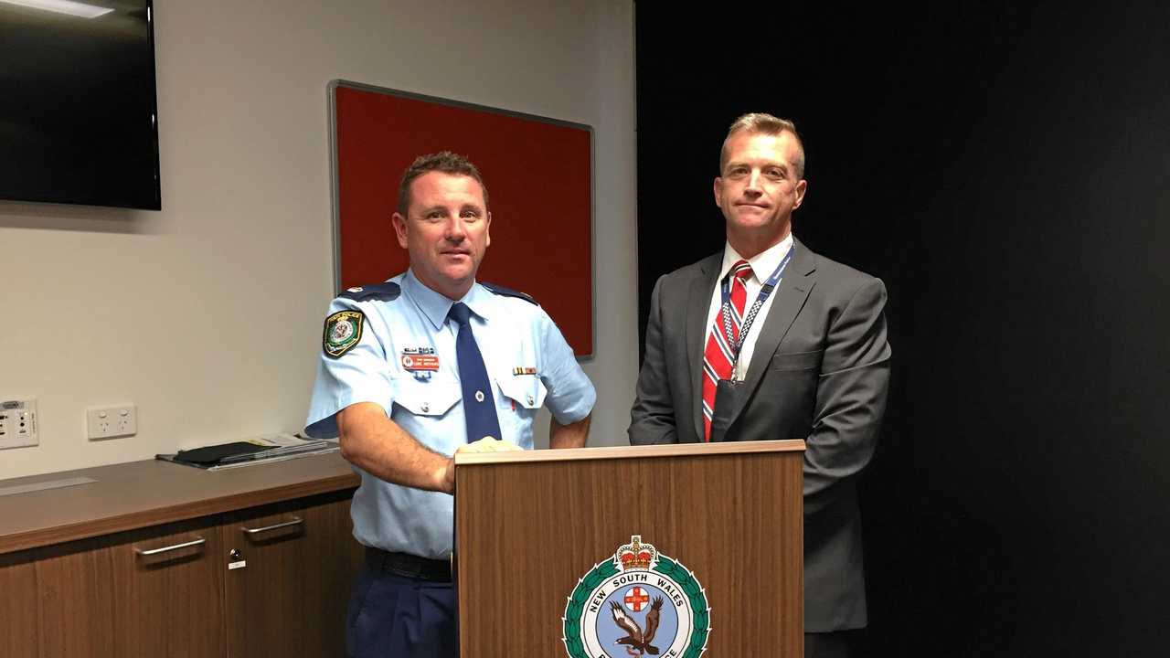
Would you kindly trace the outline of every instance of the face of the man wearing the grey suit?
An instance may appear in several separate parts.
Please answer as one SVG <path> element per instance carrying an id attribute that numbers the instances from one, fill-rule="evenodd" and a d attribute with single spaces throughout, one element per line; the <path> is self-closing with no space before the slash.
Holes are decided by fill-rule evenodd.
<path id="1" fill-rule="evenodd" d="M 792 211 L 804 200 L 797 179 L 800 144 L 791 132 L 741 131 L 727 143 L 727 158 L 715 179 L 715 204 L 727 218 L 728 237 L 775 245 L 787 237 Z"/>

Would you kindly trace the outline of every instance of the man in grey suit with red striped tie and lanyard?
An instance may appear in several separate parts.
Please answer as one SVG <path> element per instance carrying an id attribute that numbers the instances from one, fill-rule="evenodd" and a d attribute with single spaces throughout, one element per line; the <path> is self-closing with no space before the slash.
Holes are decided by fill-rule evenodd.
<path id="1" fill-rule="evenodd" d="M 715 203 L 727 244 L 659 279 L 629 443 L 804 439 L 805 656 L 853 654 L 866 625 L 856 477 L 886 409 L 881 280 L 792 237 L 804 146 L 791 122 L 736 119 Z"/>

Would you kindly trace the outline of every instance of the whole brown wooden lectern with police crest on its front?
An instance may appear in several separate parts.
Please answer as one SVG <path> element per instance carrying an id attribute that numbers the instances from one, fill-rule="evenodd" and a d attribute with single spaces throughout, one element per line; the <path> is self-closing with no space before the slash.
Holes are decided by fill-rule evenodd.
<path id="1" fill-rule="evenodd" d="M 801 658 L 804 441 L 459 454 L 463 658 Z"/>

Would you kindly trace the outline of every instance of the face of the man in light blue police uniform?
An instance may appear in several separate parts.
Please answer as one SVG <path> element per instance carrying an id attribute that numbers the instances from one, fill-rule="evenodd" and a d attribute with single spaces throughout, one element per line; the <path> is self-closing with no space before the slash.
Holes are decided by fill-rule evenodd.
<path id="1" fill-rule="evenodd" d="M 411 181 L 406 214 L 394 213 L 394 232 L 414 275 L 432 290 L 462 297 L 491 244 L 483 187 L 468 176 L 429 171 Z"/>

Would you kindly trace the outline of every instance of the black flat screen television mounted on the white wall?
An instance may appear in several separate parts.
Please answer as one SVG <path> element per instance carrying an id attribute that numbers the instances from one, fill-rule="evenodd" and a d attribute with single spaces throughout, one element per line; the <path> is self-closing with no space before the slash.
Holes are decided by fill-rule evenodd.
<path id="1" fill-rule="evenodd" d="M 149 0 L 0 0 L 0 199 L 161 208 Z"/>

